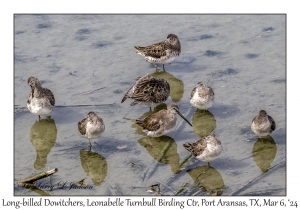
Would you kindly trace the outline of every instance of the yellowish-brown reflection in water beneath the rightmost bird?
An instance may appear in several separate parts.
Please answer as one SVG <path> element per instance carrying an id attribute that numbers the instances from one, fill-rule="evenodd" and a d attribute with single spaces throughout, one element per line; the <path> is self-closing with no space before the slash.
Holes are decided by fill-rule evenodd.
<path id="1" fill-rule="evenodd" d="M 255 164 L 262 172 L 268 172 L 273 160 L 276 157 L 277 146 L 274 139 L 269 136 L 258 138 L 252 149 L 252 156 Z"/>

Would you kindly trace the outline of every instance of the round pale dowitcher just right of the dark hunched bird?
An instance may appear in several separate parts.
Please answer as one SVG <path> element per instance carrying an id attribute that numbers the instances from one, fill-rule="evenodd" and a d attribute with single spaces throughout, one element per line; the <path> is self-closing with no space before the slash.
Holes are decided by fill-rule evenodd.
<path id="1" fill-rule="evenodd" d="M 208 109 L 215 101 L 215 94 L 211 87 L 198 82 L 191 92 L 190 103 L 198 109 Z"/>

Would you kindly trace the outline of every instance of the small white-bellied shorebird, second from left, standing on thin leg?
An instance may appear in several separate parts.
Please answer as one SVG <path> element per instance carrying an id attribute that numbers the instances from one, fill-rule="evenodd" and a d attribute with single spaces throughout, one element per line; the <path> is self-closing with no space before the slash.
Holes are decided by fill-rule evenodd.
<path id="1" fill-rule="evenodd" d="M 90 140 L 98 138 L 105 130 L 105 126 L 101 117 L 98 117 L 95 112 L 89 112 L 86 118 L 78 122 L 78 130 L 89 140 L 90 147 L 92 147 Z"/>

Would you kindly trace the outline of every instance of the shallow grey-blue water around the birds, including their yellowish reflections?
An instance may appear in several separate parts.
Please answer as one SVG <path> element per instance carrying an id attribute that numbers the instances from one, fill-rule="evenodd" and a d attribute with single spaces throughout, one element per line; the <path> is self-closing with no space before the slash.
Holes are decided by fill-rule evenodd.
<path id="1" fill-rule="evenodd" d="M 286 19 L 284 15 L 15 15 L 14 181 L 58 168 L 39 190 L 15 195 L 286 195 Z M 176 34 L 182 54 L 165 73 L 134 53 Z M 180 117 L 177 129 L 146 137 L 134 119 L 149 108 L 120 103 L 146 74 L 171 86 L 195 125 Z M 51 119 L 26 108 L 27 79 L 39 78 L 55 96 Z M 189 103 L 199 81 L 208 81 L 215 104 L 202 113 Z M 25 107 L 25 108 L 23 108 Z M 165 105 L 157 107 L 157 110 Z M 276 121 L 271 137 L 250 129 L 265 109 Z M 156 111 L 157 111 L 156 110 Z M 95 111 L 106 126 L 92 141 L 77 122 Z M 204 120 L 205 119 L 205 120 Z M 223 152 L 207 163 L 187 159 L 182 146 L 216 126 Z M 257 179 L 255 179 L 258 177 Z M 88 189 L 70 189 L 84 179 Z M 255 180 L 254 180 L 255 179 Z M 44 186 L 44 187 L 43 187 Z"/>

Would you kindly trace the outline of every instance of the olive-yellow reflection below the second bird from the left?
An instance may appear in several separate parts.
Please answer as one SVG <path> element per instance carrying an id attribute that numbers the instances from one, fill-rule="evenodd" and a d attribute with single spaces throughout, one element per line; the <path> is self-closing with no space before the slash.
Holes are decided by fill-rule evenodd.
<path id="1" fill-rule="evenodd" d="M 94 185 L 99 186 L 107 176 L 106 159 L 96 152 L 81 149 L 80 161 L 84 172 L 92 179 Z"/>

